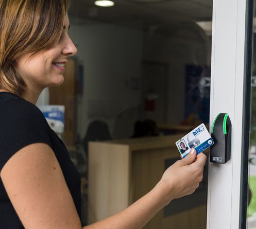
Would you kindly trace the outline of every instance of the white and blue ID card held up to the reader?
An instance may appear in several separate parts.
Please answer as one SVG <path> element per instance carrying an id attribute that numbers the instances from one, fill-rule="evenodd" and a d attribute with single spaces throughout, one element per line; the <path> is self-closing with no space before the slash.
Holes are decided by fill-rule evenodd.
<path id="1" fill-rule="evenodd" d="M 191 148 L 194 148 L 198 154 L 213 144 L 213 139 L 204 124 L 199 125 L 176 142 L 182 158 L 190 152 Z"/>

